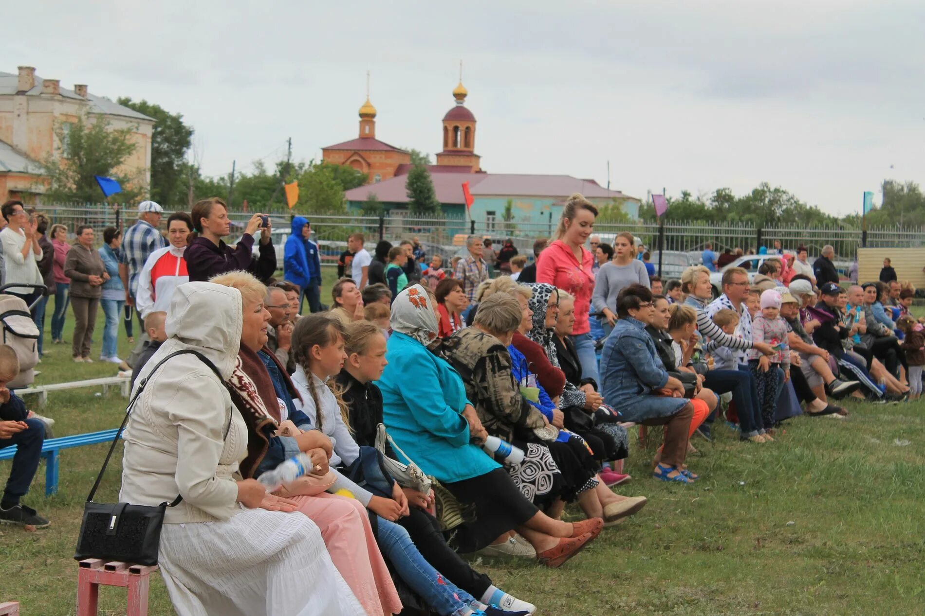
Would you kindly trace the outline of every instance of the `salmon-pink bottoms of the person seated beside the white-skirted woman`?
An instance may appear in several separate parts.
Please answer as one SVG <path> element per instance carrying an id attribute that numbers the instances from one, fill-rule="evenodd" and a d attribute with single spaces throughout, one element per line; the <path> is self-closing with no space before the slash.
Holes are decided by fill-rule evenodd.
<path id="1" fill-rule="evenodd" d="M 363 503 L 327 492 L 291 498 L 321 530 L 331 561 L 366 614 L 388 616 L 400 612 L 401 600 L 376 545 Z M 357 537 L 365 537 L 365 541 Z"/>

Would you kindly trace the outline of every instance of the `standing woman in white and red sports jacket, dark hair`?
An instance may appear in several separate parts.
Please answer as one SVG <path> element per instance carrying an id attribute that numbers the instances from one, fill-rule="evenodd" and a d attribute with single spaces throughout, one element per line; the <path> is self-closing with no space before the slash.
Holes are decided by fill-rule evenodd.
<path id="1" fill-rule="evenodd" d="M 135 294 L 135 309 L 142 319 L 151 312 L 166 312 L 170 297 L 180 284 L 190 282 L 186 270 L 186 240 L 192 233 L 192 219 L 185 211 L 177 211 L 167 218 L 166 248 L 155 250 L 144 261 L 138 275 L 138 291 Z"/>

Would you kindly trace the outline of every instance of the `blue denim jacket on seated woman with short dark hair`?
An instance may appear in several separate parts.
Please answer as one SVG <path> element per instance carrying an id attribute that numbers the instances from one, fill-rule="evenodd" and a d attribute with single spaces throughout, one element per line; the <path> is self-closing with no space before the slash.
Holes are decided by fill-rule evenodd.
<path id="1" fill-rule="evenodd" d="M 621 318 L 613 326 L 601 352 L 600 374 L 604 402 L 624 413 L 640 396 L 668 382 L 668 372 L 646 332 L 646 324 L 631 317 Z"/>

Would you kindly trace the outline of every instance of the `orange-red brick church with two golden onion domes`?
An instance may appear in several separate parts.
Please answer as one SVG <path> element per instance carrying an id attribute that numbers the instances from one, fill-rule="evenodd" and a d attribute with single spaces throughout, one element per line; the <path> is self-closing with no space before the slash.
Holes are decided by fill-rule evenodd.
<path id="1" fill-rule="evenodd" d="M 428 165 L 431 173 L 480 173 L 475 153 L 475 115 L 465 106 L 468 91 L 462 80 L 453 90 L 456 104 L 443 116 L 443 151 L 437 164 Z M 376 139 L 376 107 L 366 102 L 360 107 L 360 136 L 321 149 L 325 163 L 347 164 L 368 174 L 367 184 L 376 184 L 411 169 L 411 154 Z"/>

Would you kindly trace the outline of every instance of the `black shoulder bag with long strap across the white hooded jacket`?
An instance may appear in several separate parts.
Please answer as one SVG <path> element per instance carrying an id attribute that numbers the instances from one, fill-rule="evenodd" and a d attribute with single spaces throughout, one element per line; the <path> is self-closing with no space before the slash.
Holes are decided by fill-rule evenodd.
<path id="1" fill-rule="evenodd" d="M 216 373 L 218 380 L 222 380 L 221 373 L 215 364 L 209 361 L 205 356 L 191 349 L 176 351 L 164 357 L 154 369 L 148 374 L 147 378 L 142 379 L 139 383 L 138 391 L 129 401 L 126 408 L 125 419 L 119 427 L 116 438 L 113 440 L 109 453 L 106 453 L 106 459 L 103 462 L 103 468 L 96 477 L 93 489 L 87 496 L 87 501 L 83 505 L 83 521 L 80 523 L 80 535 L 77 539 L 77 552 L 74 558 L 81 561 L 85 558 L 99 558 L 105 561 L 134 562 L 143 565 L 157 564 L 157 550 L 161 542 L 161 526 L 164 524 L 164 513 L 167 507 L 175 507 L 179 501 L 183 500 L 182 496 L 177 496 L 173 502 L 166 501 L 157 505 L 133 505 L 129 502 L 117 502 L 116 504 L 107 504 L 102 502 L 93 502 L 93 495 L 96 489 L 100 487 L 100 481 L 103 479 L 103 473 L 106 465 L 109 464 L 109 458 L 112 457 L 116 449 L 116 443 L 122 435 L 129 422 L 131 409 L 138 400 L 138 396 L 144 391 L 144 387 L 151 376 L 160 368 L 167 359 L 173 356 L 191 354 L 199 359 Z M 228 429 L 231 427 L 231 418 L 228 417 L 228 427 L 225 429 L 225 437 L 228 437 Z"/>

